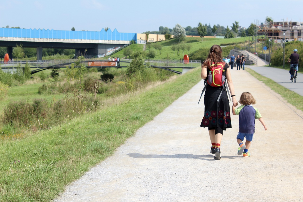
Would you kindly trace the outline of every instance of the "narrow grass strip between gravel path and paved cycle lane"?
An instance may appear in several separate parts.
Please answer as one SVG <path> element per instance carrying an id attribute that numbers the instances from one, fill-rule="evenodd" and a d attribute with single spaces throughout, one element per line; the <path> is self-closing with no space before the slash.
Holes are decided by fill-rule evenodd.
<path id="1" fill-rule="evenodd" d="M 283 98 L 286 99 L 288 103 L 295 106 L 297 109 L 303 111 L 303 106 L 302 106 L 303 96 L 300 96 L 299 94 L 285 88 L 284 86 L 281 86 L 280 84 L 274 82 L 273 80 L 258 74 L 257 72 L 255 72 L 250 68 L 247 68 L 247 71 L 256 79 L 262 81 L 266 86 L 271 88 L 273 91 L 280 94 Z"/>

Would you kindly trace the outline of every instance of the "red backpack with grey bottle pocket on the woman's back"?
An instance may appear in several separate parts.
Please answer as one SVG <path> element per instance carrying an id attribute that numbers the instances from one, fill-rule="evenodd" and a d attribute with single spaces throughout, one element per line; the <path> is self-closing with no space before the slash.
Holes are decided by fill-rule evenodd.
<path id="1" fill-rule="evenodd" d="M 220 87 L 223 86 L 225 83 L 225 76 L 223 75 L 223 72 L 225 72 L 224 69 L 225 62 L 218 62 L 217 66 L 215 64 L 212 64 L 209 67 L 209 72 L 208 72 L 208 79 L 207 83 L 208 85 L 212 87 Z"/>

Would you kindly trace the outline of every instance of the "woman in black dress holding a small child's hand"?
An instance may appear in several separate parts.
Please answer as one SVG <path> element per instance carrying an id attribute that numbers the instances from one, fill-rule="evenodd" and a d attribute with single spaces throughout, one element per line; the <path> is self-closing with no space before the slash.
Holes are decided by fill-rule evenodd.
<path id="1" fill-rule="evenodd" d="M 222 49 L 219 45 L 211 46 L 207 59 L 201 64 L 201 78 L 204 79 L 208 85 L 206 84 L 205 86 L 205 108 L 200 126 L 208 128 L 208 133 L 211 140 L 210 153 L 215 154 L 215 159 L 221 159 L 220 146 L 223 130 L 226 130 L 226 128 L 231 128 L 231 119 L 225 83 L 220 87 L 213 87 L 210 84 L 212 83 L 212 81 L 209 81 L 209 79 L 212 78 L 210 75 L 210 69 L 213 69 L 212 66 L 215 66 L 216 68 L 221 66 L 221 74 L 227 79 L 229 91 L 232 95 L 232 103 L 233 105 L 238 106 L 237 99 L 234 95 L 235 90 L 231 80 L 230 68 L 228 64 L 222 60 L 221 53 Z"/>

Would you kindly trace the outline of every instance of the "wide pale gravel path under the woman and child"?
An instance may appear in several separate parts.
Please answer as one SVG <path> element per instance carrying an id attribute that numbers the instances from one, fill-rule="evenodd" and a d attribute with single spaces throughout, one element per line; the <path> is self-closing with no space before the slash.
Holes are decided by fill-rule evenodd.
<path id="1" fill-rule="evenodd" d="M 237 99 L 252 93 L 268 127 L 256 120 L 251 157 L 237 155 L 234 115 L 221 160 L 209 153 L 199 82 L 54 201 L 303 201 L 302 112 L 248 72 L 231 74 Z"/>

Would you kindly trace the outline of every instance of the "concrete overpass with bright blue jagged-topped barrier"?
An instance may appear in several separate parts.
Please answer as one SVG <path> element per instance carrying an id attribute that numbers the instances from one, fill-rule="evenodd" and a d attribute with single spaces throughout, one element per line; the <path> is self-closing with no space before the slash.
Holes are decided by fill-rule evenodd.
<path id="1" fill-rule="evenodd" d="M 75 49 L 77 55 L 106 55 L 113 49 L 137 40 L 136 33 L 120 33 L 116 29 L 100 32 L 61 31 L 45 29 L 0 28 L 0 46 L 7 47 L 9 58 L 16 44 L 23 47 L 37 48 L 37 59 L 42 60 L 43 48 Z"/>

